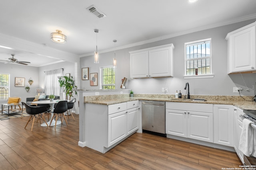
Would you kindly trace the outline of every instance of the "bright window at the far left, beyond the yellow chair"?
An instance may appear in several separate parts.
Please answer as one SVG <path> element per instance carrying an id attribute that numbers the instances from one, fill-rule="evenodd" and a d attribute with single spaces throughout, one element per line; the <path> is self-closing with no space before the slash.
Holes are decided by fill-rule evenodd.
<path id="1" fill-rule="evenodd" d="M 0 73 L 0 100 L 8 100 L 10 96 L 10 74 Z"/>

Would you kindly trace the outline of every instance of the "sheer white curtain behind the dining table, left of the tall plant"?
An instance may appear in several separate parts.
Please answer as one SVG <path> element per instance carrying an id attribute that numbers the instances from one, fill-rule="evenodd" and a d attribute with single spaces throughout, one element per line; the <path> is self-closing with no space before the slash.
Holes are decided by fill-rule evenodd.
<path id="1" fill-rule="evenodd" d="M 63 76 L 63 68 L 58 70 L 50 70 L 45 72 L 44 93 L 60 96 L 60 85 L 58 76 Z"/>

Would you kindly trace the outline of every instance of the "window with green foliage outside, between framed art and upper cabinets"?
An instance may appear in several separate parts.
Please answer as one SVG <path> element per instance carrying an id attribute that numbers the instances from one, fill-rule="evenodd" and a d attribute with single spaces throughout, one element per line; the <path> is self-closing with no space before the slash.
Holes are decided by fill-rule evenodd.
<path id="1" fill-rule="evenodd" d="M 100 89 L 115 89 L 115 68 L 113 66 L 100 68 Z"/>

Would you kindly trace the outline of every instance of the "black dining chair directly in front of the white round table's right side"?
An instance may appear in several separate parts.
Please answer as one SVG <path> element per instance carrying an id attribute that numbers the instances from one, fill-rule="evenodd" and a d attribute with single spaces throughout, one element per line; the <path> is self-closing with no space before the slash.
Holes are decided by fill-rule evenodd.
<path id="1" fill-rule="evenodd" d="M 68 110 L 68 102 L 66 100 L 63 100 L 63 101 L 60 101 L 56 104 L 56 106 L 54 107 L 54 111 L 53 111 L 53 117 L 52 117 L 52 120 L 55 118 L 55 129 L 56 129 L 56 123 L 57 123 L 57 120 L 60 119 L 61 120 L 61 123 L 63 121 L 63 118 L 65 119 L 67 125 L 68 125 L 68 122 L 67 122 L 67 119 L 64 115 L 64 113 Z M 50 125 L 52 124 L 52 120 L 50 122 Z"/>

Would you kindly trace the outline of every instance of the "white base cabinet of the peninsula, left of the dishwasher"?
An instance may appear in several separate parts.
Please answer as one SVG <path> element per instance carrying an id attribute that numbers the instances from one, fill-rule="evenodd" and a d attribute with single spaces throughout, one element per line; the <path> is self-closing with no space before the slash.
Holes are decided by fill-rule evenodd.
<path id="1" fill-rule="evenodd" d="M 85 146 L 105 153 L 139 127 L 139 101 L 85 104 Z"/>

